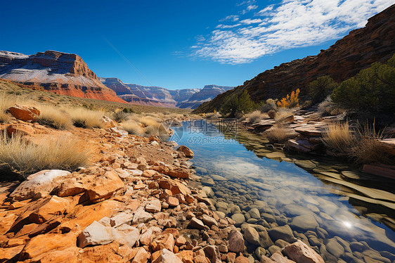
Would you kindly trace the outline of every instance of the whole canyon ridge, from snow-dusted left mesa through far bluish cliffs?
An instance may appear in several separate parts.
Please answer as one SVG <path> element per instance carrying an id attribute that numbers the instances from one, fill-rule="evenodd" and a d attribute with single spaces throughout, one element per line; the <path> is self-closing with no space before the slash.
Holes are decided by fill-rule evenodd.
<path id="1" fill-rule="evenodd" d="M 171 90 L 126 84 L 114 77 L 97 77 L 80 56 L 58 51 L 34 55 L 0 51 L 0 78 L 61 95 L 191 109 L 233 89 L 207 85 L 203 89 Z"/>

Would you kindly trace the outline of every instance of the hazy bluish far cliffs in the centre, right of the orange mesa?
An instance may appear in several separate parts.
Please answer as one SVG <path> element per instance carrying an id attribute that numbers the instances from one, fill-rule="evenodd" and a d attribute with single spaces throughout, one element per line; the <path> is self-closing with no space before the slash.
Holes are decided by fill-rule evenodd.
<path id="1" fill-rule="evenodd" d="M 160 86 L 128 84 L 115 77 L 99 77 L 101 82 L 129 103 L 161 107 L 197 108 L 205 101 L 233 89 L 233 86 L 206 85 L 203 89 L 164 89 Z"/>

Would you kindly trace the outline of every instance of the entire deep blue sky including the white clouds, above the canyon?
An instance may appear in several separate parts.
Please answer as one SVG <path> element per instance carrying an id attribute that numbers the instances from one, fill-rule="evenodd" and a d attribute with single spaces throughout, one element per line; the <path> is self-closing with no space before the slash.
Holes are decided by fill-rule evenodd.
<path id="1" fill-rule="evenodd" d="M 4 1 L 0 50 L 77 53 L 100 77 L 145 86 L 237 86 L 280 63 L 316 55 L 391 4 L 395 0 Z"/>

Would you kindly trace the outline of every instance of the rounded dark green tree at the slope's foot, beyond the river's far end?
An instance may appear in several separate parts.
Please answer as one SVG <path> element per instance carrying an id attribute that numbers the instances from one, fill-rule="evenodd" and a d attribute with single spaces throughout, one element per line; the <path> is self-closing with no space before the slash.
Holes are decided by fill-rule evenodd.
<path id="1" fill-rule="evenodd" d="M 233 94 L 226 97 L 221 112 L 228 114 L 229 117 L 235 117 L 236 113 L 250 113 L 255 108 L 257 108 L 257 105 L 254 101 L 251 101 L 247 90 L 244 90 L 242 94 Z"/>

